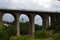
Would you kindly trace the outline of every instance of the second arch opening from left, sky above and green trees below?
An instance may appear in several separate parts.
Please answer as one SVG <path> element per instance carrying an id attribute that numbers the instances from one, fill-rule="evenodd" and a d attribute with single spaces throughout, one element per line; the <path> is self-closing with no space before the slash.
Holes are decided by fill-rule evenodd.
<path id="1" fill-rule="evenodd" d="M 29 26 L 29 17 L 26 14 L 20 15 L 20 34 L 25 35 L 28 34 L 28 26 Z"/>

